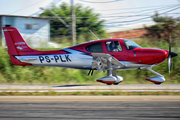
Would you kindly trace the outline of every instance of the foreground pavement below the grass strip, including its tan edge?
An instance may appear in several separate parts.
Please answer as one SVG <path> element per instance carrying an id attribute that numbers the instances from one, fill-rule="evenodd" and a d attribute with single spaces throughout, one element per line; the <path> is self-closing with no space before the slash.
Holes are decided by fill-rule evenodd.
<path id="1" fill-rule="evenodd" d="M 0 120 L 179 120 L 180 96 L 1 96 Z"/>

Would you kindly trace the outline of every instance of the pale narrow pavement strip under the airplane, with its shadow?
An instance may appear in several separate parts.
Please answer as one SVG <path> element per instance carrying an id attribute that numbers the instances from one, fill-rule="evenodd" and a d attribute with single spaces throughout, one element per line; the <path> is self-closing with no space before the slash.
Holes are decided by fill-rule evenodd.
<path id="1" fill-rule="evenodd" d="M 75 92 L 75 91 L 180 91 L 180 84 L 139 85 L 0 85 L 0 92 Z"/>

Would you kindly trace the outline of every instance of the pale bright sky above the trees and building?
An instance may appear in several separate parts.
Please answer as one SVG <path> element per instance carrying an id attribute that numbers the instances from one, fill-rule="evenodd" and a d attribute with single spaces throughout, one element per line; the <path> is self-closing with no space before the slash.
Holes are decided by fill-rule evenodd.
<path id="1" fill-rule="evenodd" d="M 71 0 L 0 0 L 0 14 L 37 16 L 43 12 L 40 7 L 50 8 Z M 106 27 L 152 22 L 155 13 L 180 17 L 180 0 L 74 0 L 89 6 L 106 20 Z"/>

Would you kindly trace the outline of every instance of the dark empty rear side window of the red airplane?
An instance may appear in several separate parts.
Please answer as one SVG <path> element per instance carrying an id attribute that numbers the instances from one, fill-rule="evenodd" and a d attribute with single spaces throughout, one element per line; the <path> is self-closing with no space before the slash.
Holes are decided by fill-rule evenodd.
<path id="1" fill-rule="evenodd" d="M 88 45 L 86 47 L 86 50 L 88 52 L 103 52 L 101 43 L 95 43 L 95 44 Z"/>

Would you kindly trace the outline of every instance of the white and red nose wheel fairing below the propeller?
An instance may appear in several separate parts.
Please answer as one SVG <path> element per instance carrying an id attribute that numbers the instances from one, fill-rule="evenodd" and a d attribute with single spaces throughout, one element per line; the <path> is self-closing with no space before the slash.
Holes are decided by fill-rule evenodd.
<path id="1" fill-rule="evenodd" d="M 161 76 L 155 76 L 155 77 L 146 77 L 146 80 L 159 85 L 165 81 L 165 78 Z"/>

